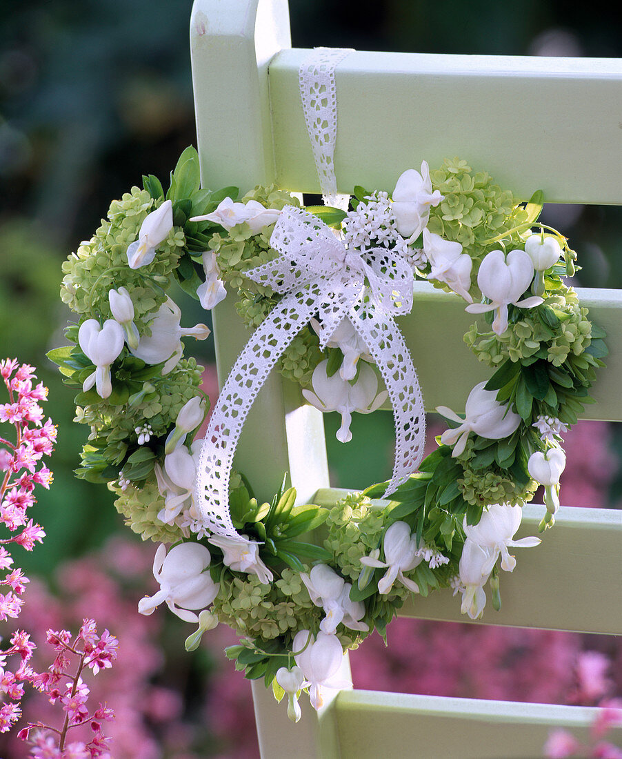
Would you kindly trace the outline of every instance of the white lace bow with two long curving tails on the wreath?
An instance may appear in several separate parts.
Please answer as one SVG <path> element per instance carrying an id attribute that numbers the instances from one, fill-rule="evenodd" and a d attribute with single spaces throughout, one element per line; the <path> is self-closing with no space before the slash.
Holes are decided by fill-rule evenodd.
<path id="1" fill-rule="evenodd" d="M 286 206 L 270 238 L 281 254 L 247 273 L 284 297 L 253 332 L 216 402 L 199 456 L 195 504 L 206 528 L 237 535 L 228 509 L 231 465 L 244 421 L 259 389 L 287 345 L 312 317 L 322 323 L 325 348 L 350 320 L 385 380 L 395 420 L 393 474 L 384 495 L 407 480 L 423 458 L 426 422 L 410 353 L 393 317 L 410 313 L 413 273 L 394 250 L 349 250 L 306 211 Z"/>

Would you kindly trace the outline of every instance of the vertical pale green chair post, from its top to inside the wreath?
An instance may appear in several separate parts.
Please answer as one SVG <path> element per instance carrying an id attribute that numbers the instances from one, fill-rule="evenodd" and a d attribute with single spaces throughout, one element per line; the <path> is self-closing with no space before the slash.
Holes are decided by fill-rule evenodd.
<path id="1" fill-rule="evenodd" d="M 275 181 L 268 65 L 291 45 L 287 0 L 196 0 L 190 52 L 204 187 L 236 185 L 243 194 Z M 214 311 L 218 377 L 224 382 L 250 330 L 234 294 Z M 269 498 L 284 472 L 304 502 L 328 485 L 322 414 L 273 372 L 250 411 L 235 465 L 256 495 Z"/>

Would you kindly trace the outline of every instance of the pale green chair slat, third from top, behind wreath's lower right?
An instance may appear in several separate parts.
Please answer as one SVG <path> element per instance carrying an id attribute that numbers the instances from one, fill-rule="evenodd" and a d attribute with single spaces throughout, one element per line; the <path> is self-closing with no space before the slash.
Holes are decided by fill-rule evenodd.
<path id="1" fill-rule="evenodd" d="M 313 502 L 335 505 L 348 491 L 318 490 Z M 377 501 L 379 505 L 386 501 Z M 545 507 L 527 504 L 518 537 L 536 535 Z M 562 507 L 535 548 L 512 549 L 514 572 L 501 572 L 501 610 L 488 600 L 482 623 L 622 634 L 622 511 Z M 400 616 L 472 622 L 448 588 L 413 596 Z"/>

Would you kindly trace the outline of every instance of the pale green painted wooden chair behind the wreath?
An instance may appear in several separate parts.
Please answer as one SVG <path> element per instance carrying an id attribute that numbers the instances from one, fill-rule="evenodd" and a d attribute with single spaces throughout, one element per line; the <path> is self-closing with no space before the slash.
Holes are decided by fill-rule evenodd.
<path id="1" fill-rule="evenodd" d="M 287 0 L 195 0 L 190 43 L 203 184 L 247 191 L 275 181 L 318 192 L 298 92 L 298 67 L 308 52 L 290 47 Z M 423 158 L 434 166 L 457 155 L 519 197 L 542 188 L 552 202 L 622 203 L 622 61 L 354 52 L 339 65 L 336 81 L 340 191 L 354 184 L 392 187 Z M 622 295 L 582 289 L 580 298 L 607 330 L 610 348 L 588 417 L 619 421 Z M 232 300 L 215 310 L 221 381 L 248 339 Z M 429 409 L 463 408 L 469 390 L 485 378 L 462 342 L 470 318 L 458 298 L 416 286 L 413 313 L 401 328 Z M 442 354 L 435 352 L 439 341 Z M 256 446 L 256 439 L 267 444 Z M 344 493 L 328 487 L 321 414 L 277 373 L 259 395 L 237 450 L 237 467 L 259 495 L 274 493 L 284 471 L 301 502 L 331 505 Z M 525 533 L 534 534 L 542 508 L 526 506 Z M 622 512 L 562 508 L 542 546 L 504 575 L 503 609 L 487 610 L 485 622 L 622 633 L 620 548 Z M 402 613 L 472 624 L 459 606 L 441 591 Z M 551 727 L 585 736 L 595 715 L 581 707 L 341 691 L 319 715 L 309 708 L 294 725 L 262 681 L 253 683 L 253 697 L 262 756 L 269 759 L 525 759 L 542 755 Z"/>

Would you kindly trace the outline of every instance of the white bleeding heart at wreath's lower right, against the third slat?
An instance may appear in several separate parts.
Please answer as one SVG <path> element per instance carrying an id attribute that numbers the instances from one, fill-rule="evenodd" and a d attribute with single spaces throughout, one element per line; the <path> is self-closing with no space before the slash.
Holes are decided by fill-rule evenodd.
<path id="1" fill-rule="evenodd" d="M 516 559 L 510 556 L 508 546 L 531 548 L 540 543 L 537 537 L 522 537 L 520 540 L 514 540 L 514 534 L 520 528 L 522 518 L 523 509 L 509 503 L 495 503 L 488 506 L 478 524 L 467 524 L 467 518 L 464 518 L 463 528 L 467 538 L 481 548 L 492 552 L 488 563 L 482 566 L 484 574 L 488 575 L 492 572 L 499 554 L 501 554 L 501 569 L 506 572 L 514 570 Z"/>

